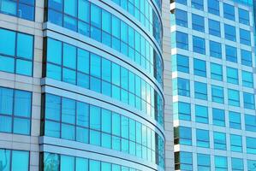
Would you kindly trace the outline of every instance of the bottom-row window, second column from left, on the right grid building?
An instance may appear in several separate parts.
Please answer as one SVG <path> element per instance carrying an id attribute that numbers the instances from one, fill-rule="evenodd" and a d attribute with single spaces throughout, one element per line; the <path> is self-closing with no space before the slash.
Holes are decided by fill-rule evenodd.
<path id="1" fill-rule="evenodd" d="M 197 154 L 197 168 L 198 170 L 211 170 L 211 157 L 210 155 Z"/>

